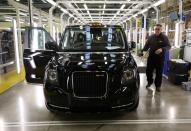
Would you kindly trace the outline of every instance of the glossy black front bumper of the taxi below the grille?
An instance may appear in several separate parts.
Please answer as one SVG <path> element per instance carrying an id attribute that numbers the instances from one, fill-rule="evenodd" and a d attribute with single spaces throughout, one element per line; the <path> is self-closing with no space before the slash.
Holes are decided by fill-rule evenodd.
<path id="1" fill-rule="evenodd" d="M 128 109 L 134 106 L 139 97 L 136 80 L 129 81 L 127 85 L 119 87 L 115 92 L 108 91 L 103 98 L 76 98 L 72 92 L 65 92 L 60 87 L 49 90 L 49 86 L 52 85 L 44 85 L 46 106 L 49 110 L 87 112 Z"/>

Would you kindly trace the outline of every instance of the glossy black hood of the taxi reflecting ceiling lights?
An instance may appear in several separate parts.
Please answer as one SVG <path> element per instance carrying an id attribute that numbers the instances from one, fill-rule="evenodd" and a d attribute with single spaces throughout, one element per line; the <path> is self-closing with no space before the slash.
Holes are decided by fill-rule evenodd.
<path id="1" fill-rule="evenodd" d="M 73 71 L 121 70 L 129 53 L 59 53 L 58 65 Z"/>

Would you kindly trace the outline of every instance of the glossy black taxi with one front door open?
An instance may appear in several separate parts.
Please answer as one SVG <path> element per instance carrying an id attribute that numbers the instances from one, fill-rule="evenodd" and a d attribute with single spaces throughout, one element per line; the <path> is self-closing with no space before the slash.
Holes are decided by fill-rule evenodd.
<path id="1" fill-rule="evenodd" d="M 26 32 L 26 80 L 43 83 L 50 111 L 138 107 L 139 73 L 120 26 L 68 26 L 58 44 L 42 28 Z"/>

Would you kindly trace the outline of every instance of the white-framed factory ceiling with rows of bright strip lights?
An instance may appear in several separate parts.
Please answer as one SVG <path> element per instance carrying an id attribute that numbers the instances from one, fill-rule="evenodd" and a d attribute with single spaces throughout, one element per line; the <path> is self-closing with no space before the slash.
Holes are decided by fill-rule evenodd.
<path id="1" fill-rule="evenodd" d="M 28 0 L 0 0 L 0 16 L 16 16 L 12 1 L 28 6 Z M 73 17 L 81 23 L 101 22 L 120 24 L 132 17 L 147 12 L 165 0 L 33 0 L 33 7 L 53 16 Z M 21 9 L 21 15 L 28 17 L 28 11 Z M 34 16 L 38 14 L 34 13 Z M 47 18 L 47 17 L 45 17 Z"/>

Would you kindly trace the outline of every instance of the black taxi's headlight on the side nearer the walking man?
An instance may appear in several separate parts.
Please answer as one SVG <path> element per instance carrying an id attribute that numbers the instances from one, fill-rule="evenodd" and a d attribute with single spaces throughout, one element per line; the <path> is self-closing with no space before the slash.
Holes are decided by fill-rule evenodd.
<path id="1" fill-rule="evenodd" d="M 127 69 L 123 72 L 121 78 L 121 84 L 125 84 L 128 80 L 133 79 L 135 76 L 135 71 L 132 69 Z"/>

